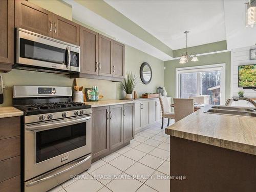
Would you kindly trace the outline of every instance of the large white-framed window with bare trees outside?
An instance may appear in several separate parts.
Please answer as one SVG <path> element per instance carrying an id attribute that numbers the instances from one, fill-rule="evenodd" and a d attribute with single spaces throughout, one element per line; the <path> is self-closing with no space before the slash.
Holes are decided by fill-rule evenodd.
<path id="1" fill-rule="evenodd" d="M 176 97 L 196 96 L 204 104 L 225 103 L 225 64 L 176 69 Z"/>

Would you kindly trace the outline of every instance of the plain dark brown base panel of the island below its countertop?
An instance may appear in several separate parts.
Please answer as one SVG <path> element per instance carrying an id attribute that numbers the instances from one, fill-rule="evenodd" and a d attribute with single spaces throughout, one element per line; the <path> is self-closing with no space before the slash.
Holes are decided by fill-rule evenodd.
<path id="1" fill-rule="evenodd" d="M 170 136 L 170 159 L 169 191 L 256 191 L 254 155 Z"/>

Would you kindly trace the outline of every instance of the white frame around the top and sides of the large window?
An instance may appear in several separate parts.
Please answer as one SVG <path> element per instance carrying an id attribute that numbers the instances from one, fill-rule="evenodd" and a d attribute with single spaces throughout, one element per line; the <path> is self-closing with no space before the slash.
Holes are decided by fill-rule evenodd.
<path id="1" fill-rule="evenodd" d="M 176 77 L 175 77 L 175 96 L 180 98 L 180 76 L 182 73 L 198 73 L 198 72 L 207 72 L 207 71 L 221 71 L 221 82 L 220 82 L 220 104 L 225 104 L 226 97 L 226 63 L 218 63 L 212 65 L 204 66 L 194 66 L 194 67 L 184 67 L 176 68 Z M 200 90 L 197 90 L 198 92 Z"/>

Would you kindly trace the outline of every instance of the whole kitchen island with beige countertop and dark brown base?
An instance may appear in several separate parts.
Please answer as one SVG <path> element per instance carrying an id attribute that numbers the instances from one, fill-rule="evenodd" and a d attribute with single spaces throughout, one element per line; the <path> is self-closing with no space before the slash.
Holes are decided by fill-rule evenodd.
<path id="1" fill-rule="evenodd" d="M 167 127 L 170 191 L 256 191 L 256 118 L 204 113 Z M 183 177 L 184 178 L 184 177 Z"/>

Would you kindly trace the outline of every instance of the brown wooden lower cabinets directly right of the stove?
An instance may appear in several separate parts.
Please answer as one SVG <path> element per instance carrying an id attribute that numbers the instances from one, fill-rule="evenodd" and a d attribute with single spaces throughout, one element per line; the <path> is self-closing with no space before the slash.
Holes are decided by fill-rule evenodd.
<path id="1" fill-rule="evenodd" d="M 93 162 L 119 150 L 133 138 L 134 103 L 92 108 Z"/>

